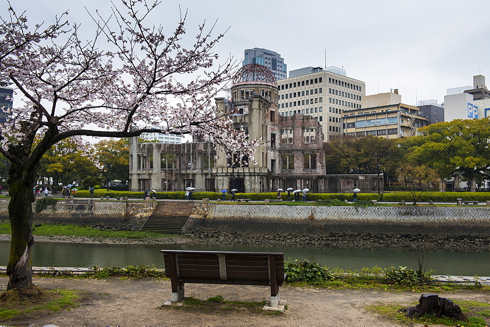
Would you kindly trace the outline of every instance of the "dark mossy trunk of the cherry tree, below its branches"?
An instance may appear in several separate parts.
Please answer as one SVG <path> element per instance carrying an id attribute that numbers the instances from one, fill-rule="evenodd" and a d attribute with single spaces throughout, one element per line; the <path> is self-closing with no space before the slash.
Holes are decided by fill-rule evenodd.
<path id="1" fill-rule="evenodd" d="M 9 282 L 7 289 L 33 287 L 31 247 L 32 237 L 32 205 L 34 195 L 35 172 L 25 172 L 21 165 L 11 165 L 9 171 L 10 203 L 8 217 L 12 227 L 10 241 L 10 257 L 7 265 Z"/>

